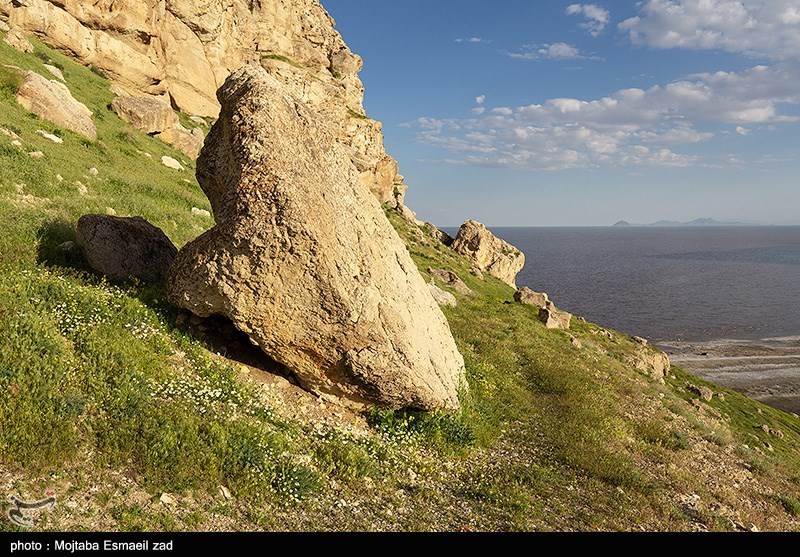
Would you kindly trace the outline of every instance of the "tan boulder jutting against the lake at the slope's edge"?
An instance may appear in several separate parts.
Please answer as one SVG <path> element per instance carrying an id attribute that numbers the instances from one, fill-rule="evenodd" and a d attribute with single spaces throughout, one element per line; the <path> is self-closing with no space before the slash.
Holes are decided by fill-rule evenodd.
<path id="1" fill-rule="evenodd" d="M 517 273 L 525 266 L 525 254 L 474 220 L 461 225 L 452 248 L 482 271 L 514 287 Z"/>

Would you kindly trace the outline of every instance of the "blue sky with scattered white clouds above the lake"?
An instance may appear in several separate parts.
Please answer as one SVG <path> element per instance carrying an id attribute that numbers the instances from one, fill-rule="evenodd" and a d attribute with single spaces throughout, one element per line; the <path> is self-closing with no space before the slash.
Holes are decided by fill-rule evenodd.
<path id="1" fill-rule="evenodd" d="M 800 224 L 800 0 L 323 0 L 440 226 Z"/>

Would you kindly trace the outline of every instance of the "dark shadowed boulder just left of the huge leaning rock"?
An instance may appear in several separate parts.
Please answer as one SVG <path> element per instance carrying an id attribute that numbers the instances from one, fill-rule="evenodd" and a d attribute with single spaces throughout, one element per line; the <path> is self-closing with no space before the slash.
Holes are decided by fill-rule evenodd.
<path id="1" fill-rule="evenodd" d="M 84 215 L 77 239 L 91 268 L 114 280 L 164 282 L 178 253 L 160 228 L 140 217 Z"/>

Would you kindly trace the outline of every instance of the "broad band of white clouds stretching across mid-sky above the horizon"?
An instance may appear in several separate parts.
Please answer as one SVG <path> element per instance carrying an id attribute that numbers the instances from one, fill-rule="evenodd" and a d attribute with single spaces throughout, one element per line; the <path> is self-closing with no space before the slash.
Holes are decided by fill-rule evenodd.
<path id="1" fill-rule="evenodd" d="M 420 141 L 451 153 L 450 163 L 532 169 L 691 166 L 703 163 L 673 151 L 675 146 L 685 150 L 718 132 L 742 133 L 747 125 L 796 121 L 782 114 L 785 105 L 800 106 L 800 74 L 755 66 L 646 90 L 621 89 L 594 100 L 553 98 L 486 109 L 484 99 L 473 118 L 421 118 L 415 126 Z"/>

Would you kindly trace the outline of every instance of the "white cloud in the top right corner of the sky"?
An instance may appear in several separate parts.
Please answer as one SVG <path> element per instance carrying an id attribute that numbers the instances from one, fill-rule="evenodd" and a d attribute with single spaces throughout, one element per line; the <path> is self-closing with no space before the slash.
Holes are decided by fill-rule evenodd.
<path id="1" fill-rule="evenodd" d="M 619 24 L 655 48 L 720 49 L 772 60 L 800 56 L 797 0 L 646 0 Z"/>

